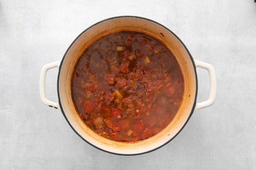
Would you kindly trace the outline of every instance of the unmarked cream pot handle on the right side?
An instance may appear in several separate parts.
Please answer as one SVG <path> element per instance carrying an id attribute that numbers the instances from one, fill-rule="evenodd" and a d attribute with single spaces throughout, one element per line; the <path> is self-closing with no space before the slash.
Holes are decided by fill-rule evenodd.
<path id="1" fill-rule="evenodd" d="M 212 67 L 212 65 L 210 65 L 208 63 L 201 62 L 201 61 L 197 61 L 197 60 L 194 60 L 194 62 L 196 64 L 196 67 L 200 67 L 202 69 L 207 70 L 209 73 L 209 77 L 210 77 L 209 98 L 208 98 L 208 100 L 200 102 L 200 103 L 196 102 L 195 110 L 198 110 L 198 109 L 202 109 L 204 107 L 211 106 L 214 103 L 215 97 L 216 97 L 216 75 L 215 75 L 215 70 Z"/>

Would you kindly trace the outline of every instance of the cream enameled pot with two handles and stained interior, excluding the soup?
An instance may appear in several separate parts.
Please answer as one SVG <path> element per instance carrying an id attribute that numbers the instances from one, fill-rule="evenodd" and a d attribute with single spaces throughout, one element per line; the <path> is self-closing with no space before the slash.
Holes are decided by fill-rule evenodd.
<path id="1" fill-rule="evenodd" d="M 184 80 L 183 100 L 173 120 L 153 137 L 133 143 L 113 141 L 94 133 L 82 122 L 79 115 L 76 113 L 76 108 L 71 96 L 71 78 L 81 54 L 92 42 L 100 37 L 118 31 L 141 32 L 162 42 L 174 55 L 180 66 Z M 54 67 L 59 68 L 57 84 L 59 102 L 57 103 L 47 100 L 45 95 L 46 72 Z M 210 76 L 209 99 L 201 103 L 196 102 L 196 67 L 206 69 Z M 184 128 L 194 111 L 212 105 L 216 96 L 216 77 L 213 67 L 210 64 L 193 59 L 182 41 L 168 28 L 150 19 L 134 16 L 120 16 L 100 21 L 78 35 L 60 61 L 46 64 L 42 68 L 39 88 L 43 103 L 61 110 L 70 127 L 77 135 L 84 139 L 84 141 L 106 152 L 120 155 L 136 155 L 154 151 L 167 144 Z"/>

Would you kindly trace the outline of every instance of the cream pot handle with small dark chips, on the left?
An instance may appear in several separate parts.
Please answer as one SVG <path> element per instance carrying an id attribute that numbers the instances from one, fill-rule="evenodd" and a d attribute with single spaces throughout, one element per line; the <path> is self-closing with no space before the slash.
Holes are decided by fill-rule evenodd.
<path id="1" fill-rule="evenodd" d="M 58 102 L 56 103 L 56 102 L 50 101 L 46 98 L 45 77 L 46 77 L 46 72 L 52 68 L 59 67 L 60 62 L 61 62 L 61 60 L 44 65 L 44 67 L 42 68 L 42 70 L 40 72 L 40 78 L 39 78 L 39 92 L 40 92 L 40 97 L 41 97 L 42 102 L 47 106 L 54 107 L 59 110 L 60 110 L 60 105 Z"/>

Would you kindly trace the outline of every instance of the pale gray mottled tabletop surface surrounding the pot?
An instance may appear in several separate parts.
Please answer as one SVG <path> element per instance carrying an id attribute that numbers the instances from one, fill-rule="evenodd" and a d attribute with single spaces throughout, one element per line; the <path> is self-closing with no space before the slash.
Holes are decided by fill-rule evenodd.
<path id="1" fill-rule="evenodd" d="M 95 149 L 39 97 L 41 68 L 88 26 L 120 15 L 168 27 L 217 77 L 215 103 L 196 111 L 172 142 L 138 156 Z M 0 169 L 256 169 L 255 53 L 253 0 L 0 0 Z M 197 71 L 204 101 L 209 76 Z M 46 77 L 53 101 L 57 73 Z"/>

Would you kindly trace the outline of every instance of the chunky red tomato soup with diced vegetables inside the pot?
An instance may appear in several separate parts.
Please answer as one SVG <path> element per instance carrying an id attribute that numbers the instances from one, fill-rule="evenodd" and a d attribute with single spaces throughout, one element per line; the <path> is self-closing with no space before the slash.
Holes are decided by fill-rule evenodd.
<path id="1" fill-rule="evenodd" d="M 183 86 L 180 68 L 163 44 L 122 31 L 84 51 L 73 73 L 72 97 L 78 115 L 95 133 L 136 142 L 171 122 Z"/>

